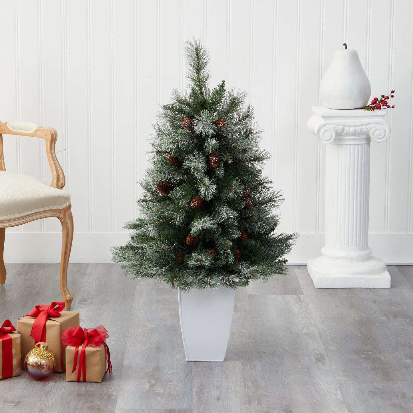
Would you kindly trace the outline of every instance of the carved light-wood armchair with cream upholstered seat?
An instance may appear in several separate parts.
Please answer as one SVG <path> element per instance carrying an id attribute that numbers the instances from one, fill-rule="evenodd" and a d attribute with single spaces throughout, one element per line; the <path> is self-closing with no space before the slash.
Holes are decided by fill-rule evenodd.
<path id="1" fill-rule="evenodd" d="M 33 136 L 46 141 L 47 159 L 52 170 L 50 186 L 22 173 L 6 172 L 3 157 L 3 133 Z M 53 128 L 43 128 L 30 122 L 0 122 L 0 285 L 4 285 L 6 281 L 6 268 L 3 260 L 6 228 L 54 216 L 62 223 L 60 290 L 66 303 L 65 309 L 69 310 L 73 297 L 67 288 L 66 278 L 73 239 L 73 217 L 70 194 L 62 191 L 65 179 L 56 157 L 56 140 L 57 132 Z"/>

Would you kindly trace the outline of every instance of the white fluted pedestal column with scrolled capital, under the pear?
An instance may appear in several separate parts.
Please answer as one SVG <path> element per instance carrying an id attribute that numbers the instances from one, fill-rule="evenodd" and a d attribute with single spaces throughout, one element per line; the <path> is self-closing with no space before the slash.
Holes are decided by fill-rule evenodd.
<path id="1" fill-rule="evenodd" d="M 316 288 L 389 288 L 386 263 L 368 247 L 370 139 L 390 135 L 385 110 L 313 107 L 308 128 L 327 145 L 325 246 L 308 261 Z"/>

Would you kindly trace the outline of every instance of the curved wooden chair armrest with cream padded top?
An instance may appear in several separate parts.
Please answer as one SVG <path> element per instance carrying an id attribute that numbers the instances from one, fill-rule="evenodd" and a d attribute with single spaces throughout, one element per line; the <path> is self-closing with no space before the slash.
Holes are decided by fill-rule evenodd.
<path id="1" fill-rule="evenodd" d="M 34 138 L 42 138 L 46 141 L 46 154 L 49 161 L 50 170 L 52 171 L 52 183 L 50 186 L 62 189 L 64 187 L 65 178 L 62 166 L 56 156 L 56 140 L 57 131 L 54 128 L 44 128 L 32 122 L 0 122 L 0 148 L 2 147 L 2 134 L 6 135 L 21 135 L 33 136 Z M 2 152 L 2 151 L 0 151 Z"/>

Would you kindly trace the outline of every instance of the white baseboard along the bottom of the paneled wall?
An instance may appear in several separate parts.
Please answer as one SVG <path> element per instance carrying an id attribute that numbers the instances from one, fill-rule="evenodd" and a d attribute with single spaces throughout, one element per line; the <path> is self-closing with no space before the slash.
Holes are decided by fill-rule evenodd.
<path id="1" fill-rule="evenodd" d="M 109 263 L 110 249 L 124 245 L 129 235 L 124 233 L 75 233 L 71 263 Z M 4 258 L 6 263 L 60 262 L 61 233 L 7 233 Z M 290 264 L 306 264 L 320 255 L 323 234 L 301 234 L 291 254 Z M 413 234 L 370 234 L 373 255 L 387 264 L 413 264 Z"/>

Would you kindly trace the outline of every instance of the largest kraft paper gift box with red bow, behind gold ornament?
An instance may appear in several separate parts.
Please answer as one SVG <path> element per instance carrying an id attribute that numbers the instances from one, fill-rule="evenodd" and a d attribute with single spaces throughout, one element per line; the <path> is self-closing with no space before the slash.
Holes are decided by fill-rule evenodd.
<path id="1" fill-rule="evenodd" d="M 24 358 L 38 342 L 46 342 L 48 349 L 56 358 L 55 372 L 61 373 L 63 345 L 62 332 L 71 326 L 79 325 L 77 311 L 62 311 L 64 302 L 53 302 L 50 306 L 36 306 L 33 311 L 17 320 L 17 332 L 21 335 L 21 368 L 24 369 Z M 37 316 L 36 316 L 37 314 Z M 35 328 L 33 326 L 36 324 Z M 35 330 L 37 327 L 37 331 Z M 37 334 L 36 334 L 37 333 Z M 36 339 L 33 338 L 33 335 Z"/>

